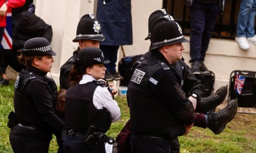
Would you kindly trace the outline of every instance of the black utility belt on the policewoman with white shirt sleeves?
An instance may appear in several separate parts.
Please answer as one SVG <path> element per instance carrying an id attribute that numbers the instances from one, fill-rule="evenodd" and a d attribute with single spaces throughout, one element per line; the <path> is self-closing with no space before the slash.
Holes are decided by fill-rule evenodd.
<path id="1" fill-rule="evenodd" d="M 115 140 L 113 138 L 109 138 L 106 134 L 103 132 L 95 132 L 94 125 L 90 125 L 87 131 L 80 132 L 74 129 L 66 130 L 64 129 L 62 131 L 62 140 L 65 140 L 66 138 L 74 136 L 79 138 L 85 138 L 85 143 L 90 148 L 95 148 L 98 146 L 98 144 L 103 143 L 109 143 L 113 144 L 115 143 Z"/>

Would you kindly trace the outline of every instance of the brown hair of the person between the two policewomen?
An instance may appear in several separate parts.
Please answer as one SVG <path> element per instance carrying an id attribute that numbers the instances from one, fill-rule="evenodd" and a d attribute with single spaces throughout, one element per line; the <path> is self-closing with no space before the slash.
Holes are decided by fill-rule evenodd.
<path id="1" fill-rule="evenodd" d="M 65 97 L 66 97 L 67 90 L 66 89 L 59 89 L 57 102 L 56 102 L 56 115 L 61 116 L 65 113 Z"/>

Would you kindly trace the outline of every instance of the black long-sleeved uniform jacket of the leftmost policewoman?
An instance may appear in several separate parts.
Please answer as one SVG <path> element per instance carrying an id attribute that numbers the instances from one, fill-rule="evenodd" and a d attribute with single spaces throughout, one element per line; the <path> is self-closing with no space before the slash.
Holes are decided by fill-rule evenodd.
<path id="1" fill-rule="evenodd" d="M 14 85 L 14 111 L 18 123 L 33 130 L 16 126 L 13 132 L 48 140 L 52 132 L 61 134 L 64 123 L 54 111 L 57 87 L 46 74 L 33 66 L 27 66 L 18 74 Z"/>

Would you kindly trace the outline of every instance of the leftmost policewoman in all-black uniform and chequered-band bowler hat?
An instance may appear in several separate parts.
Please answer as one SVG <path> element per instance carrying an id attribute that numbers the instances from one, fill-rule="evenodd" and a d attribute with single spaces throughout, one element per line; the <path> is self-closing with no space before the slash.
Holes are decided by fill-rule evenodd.
<path id="1" fill-rule="evenodd" d="M 48 152 L 52 133 L 60 136 L 64 123 L 54 113 L 57 87 L 46 76 L 56 53 L 42 37 L 31 38 L 21 50 L 20 61 L 26 66 L 14 84 L 14 111 L 17 124 L 10 131 L 14 152 Z"/>

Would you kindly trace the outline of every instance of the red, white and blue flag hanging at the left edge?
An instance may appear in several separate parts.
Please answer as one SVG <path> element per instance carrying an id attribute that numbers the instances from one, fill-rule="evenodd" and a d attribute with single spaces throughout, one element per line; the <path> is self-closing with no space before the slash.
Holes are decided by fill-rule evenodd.
<path id="1" fill-rule="evenodd" d="M 3 32 L 0 49 L 13 49 L 12 13 L 6 13 L 6 28 Z"/>

